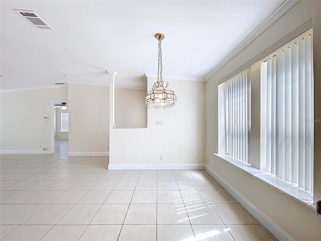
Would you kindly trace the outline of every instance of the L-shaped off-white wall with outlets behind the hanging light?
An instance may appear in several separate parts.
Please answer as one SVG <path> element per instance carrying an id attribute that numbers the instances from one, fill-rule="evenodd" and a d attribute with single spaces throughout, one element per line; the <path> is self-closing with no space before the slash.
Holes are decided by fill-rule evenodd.
<path id="1" fill-rule="evenodd" d="M 148 90 L 155 81 L 147 79 Z M 177 95 L 176 106 L 147 109 L 147 128 L 111 129 L 111 165 L 205 162 L 205 83 L 165 81 L 169 81 L 169 88 Z M 163 126 L 156 126 L 156 121 L 162 121 Z M 160 155 L 163 161 L 159 160 Z"/>

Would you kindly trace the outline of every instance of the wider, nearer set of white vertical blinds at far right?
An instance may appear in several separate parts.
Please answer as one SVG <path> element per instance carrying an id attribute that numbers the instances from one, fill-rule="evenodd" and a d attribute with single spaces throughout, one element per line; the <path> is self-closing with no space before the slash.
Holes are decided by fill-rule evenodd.
<path id="1" fill-rule="evenodd" d="M 313 190 L 312 36 L 262 63 L 266 80 L 266 164 L 276 177 Z"/>

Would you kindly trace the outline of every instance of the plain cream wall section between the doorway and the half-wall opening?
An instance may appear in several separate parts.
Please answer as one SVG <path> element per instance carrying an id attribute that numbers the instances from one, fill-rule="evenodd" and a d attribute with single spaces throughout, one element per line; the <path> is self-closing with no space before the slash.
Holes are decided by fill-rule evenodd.
<path id="1" fill-rule="evenodd" d="M 69 84 L 69 154 L 101 153 L 109 147 L 109 87 Z"/>

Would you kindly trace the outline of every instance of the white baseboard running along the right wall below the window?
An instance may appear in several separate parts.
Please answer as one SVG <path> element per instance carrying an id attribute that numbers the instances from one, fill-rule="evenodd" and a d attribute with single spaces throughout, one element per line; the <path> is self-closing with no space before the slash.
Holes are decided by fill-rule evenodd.
<path id="1" fill-rule="evenodd" d="M 205 170 L 215 178 L 236 200 L 238 200 L 263 226 L 269 230 L 278 240 L 293 241 L 294 239 L 278 226 L 273 220 L 261 212 L 251 202 L 236 191 L 230 184 L 224 181 L 216 172 L 209 166 L 205 165 Z"/>

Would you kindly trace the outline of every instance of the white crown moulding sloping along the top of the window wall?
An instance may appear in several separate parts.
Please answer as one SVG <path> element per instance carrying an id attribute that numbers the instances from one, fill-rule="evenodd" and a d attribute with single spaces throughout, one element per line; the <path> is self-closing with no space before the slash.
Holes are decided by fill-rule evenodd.
<path id="1" fill-rule="evenodd" d="M 261 23 L 245 40 L 243 40 L 228 56 L 226 56 L 209 74 L 205 76 L 205 81 L 210 79 L 216 72 L 218 72 L 224 65 L 231 61 L 243 49 L 245 49 L 251 42 L 274 24 L 282 15 L 284 15 L 290 8 L 292 8 L 299 1 L 285 0 L 284 3 L 278 7 L 263 23 Z"/>

